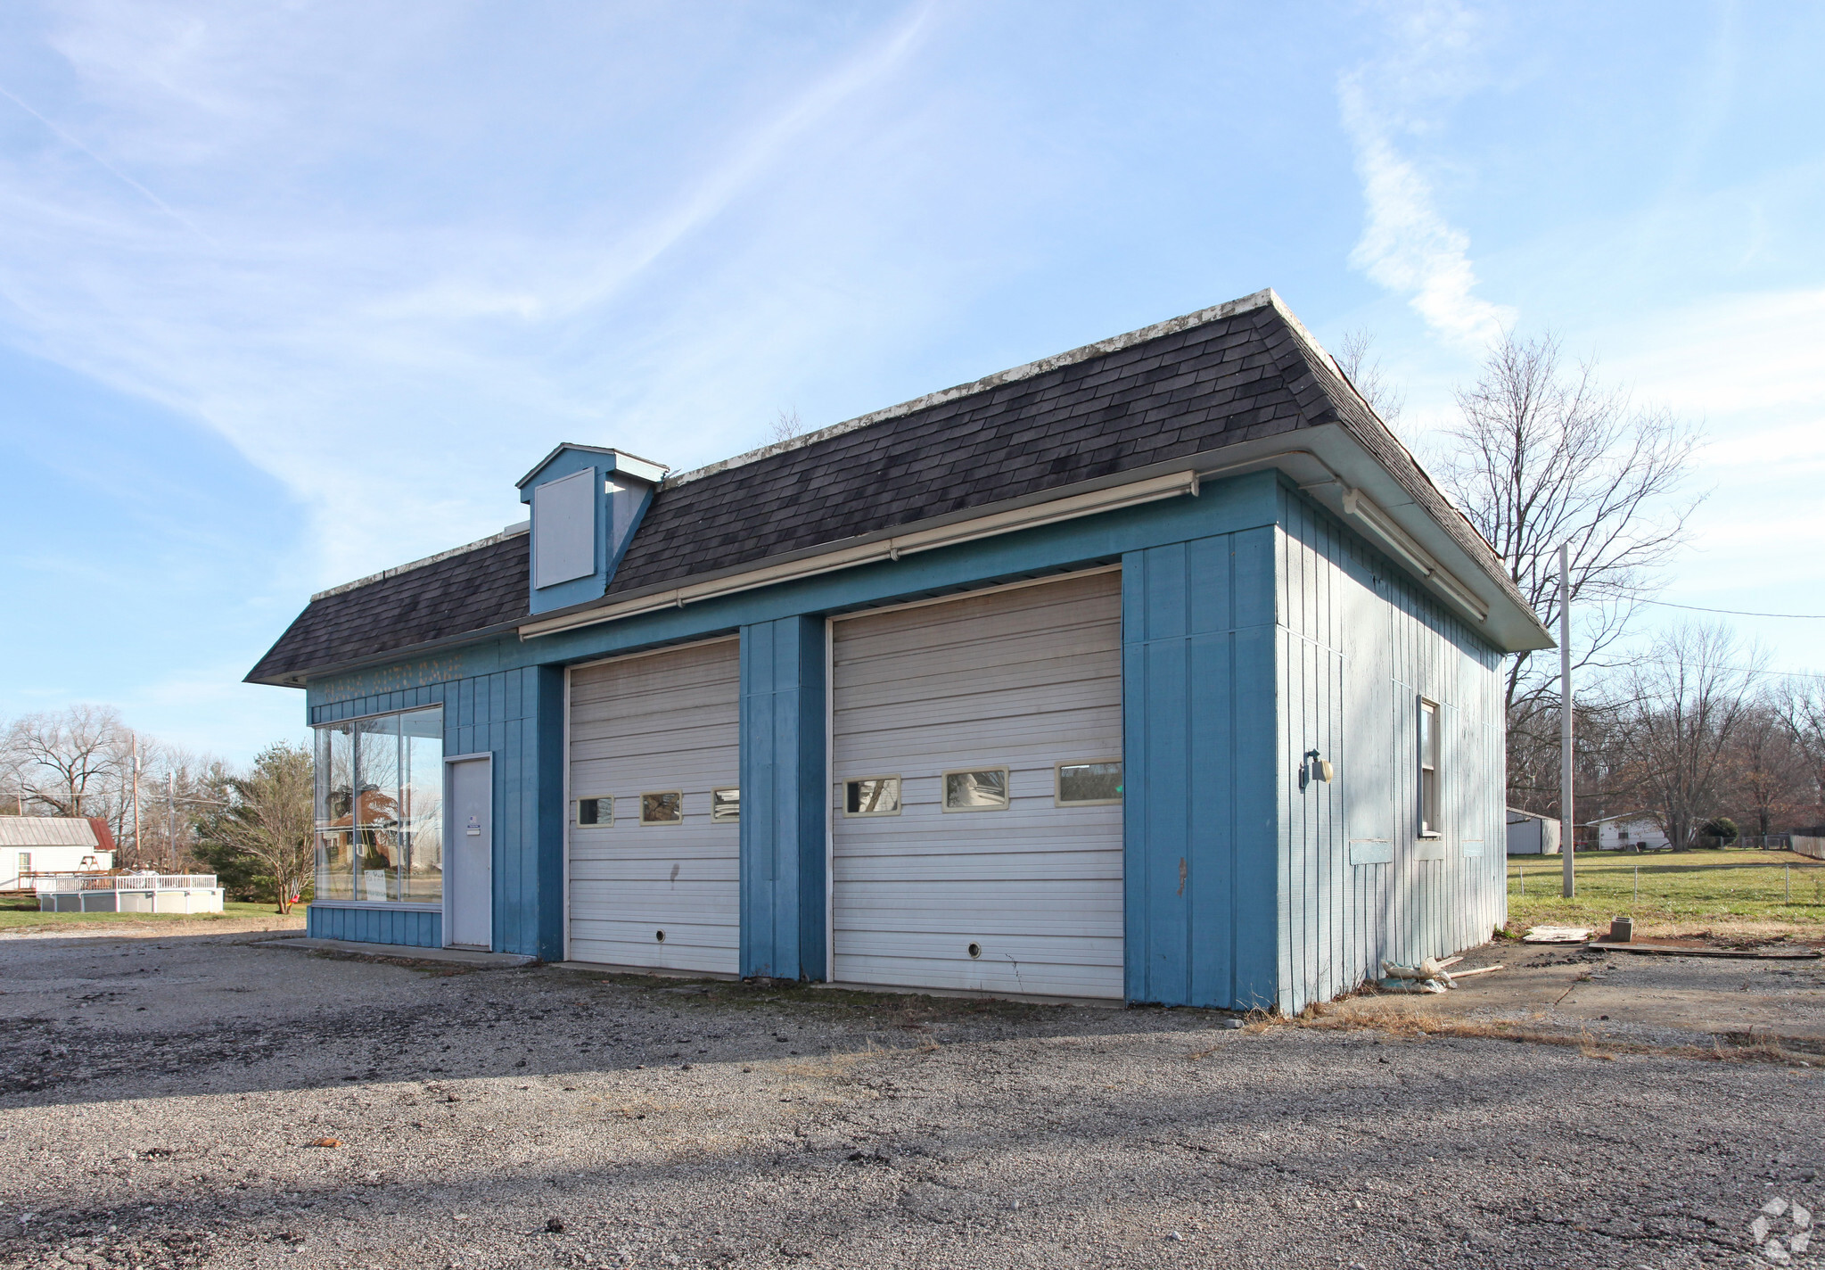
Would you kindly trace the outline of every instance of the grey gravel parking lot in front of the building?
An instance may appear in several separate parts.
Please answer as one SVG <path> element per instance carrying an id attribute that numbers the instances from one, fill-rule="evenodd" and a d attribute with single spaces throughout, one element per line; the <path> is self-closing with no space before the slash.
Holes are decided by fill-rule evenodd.
<path id="1" fill-rule="evenodd" d="M 0 940 L 0 1266 L 1661 1268 L 1825 1208 L 1798 1062 L 261 938 Z"/>

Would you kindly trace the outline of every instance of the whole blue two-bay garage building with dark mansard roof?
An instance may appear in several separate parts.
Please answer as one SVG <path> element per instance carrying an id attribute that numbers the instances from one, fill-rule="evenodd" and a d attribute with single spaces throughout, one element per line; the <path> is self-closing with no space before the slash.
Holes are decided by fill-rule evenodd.
<path id="1" fill-rule="evenodd" d="M 1301 1009 L 1506 916 L 1502 562 L 1272 292 L 312 597 L 316 936 Z"/>

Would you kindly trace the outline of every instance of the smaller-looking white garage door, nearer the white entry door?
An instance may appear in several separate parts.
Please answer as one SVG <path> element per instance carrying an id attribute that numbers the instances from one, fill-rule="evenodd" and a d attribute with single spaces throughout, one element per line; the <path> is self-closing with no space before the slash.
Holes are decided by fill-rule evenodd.
<path id="1" fill-rule="evenodd" d="M 739 712 L 734 639 L 571 671 L 573 960 L 737 971 Z"/>

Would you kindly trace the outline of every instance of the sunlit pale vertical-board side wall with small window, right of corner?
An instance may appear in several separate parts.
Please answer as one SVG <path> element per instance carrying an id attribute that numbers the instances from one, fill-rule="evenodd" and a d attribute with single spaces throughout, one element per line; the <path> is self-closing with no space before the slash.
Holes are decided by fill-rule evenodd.
<path id="1" fill-rule="evenodd" d="M 1303 494 L 1281 489 L 1279 526 L 1278 996 L 1298 1011 L 1506 920 L 1502 659 Z M 1420 838 L 1420 697 L 1440 706 L 1438 839 Z M 1332 785 L 1299 786 L 1312 748 Z"/>

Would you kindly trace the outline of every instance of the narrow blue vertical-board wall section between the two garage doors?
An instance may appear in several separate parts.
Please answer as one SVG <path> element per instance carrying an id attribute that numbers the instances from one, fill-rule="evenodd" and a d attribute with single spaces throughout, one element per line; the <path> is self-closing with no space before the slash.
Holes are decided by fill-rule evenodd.
<path id="1" fill-rule="evenodd" d="M 741 973 L 825 976 L 825 620 L 741 628 Z"/>

